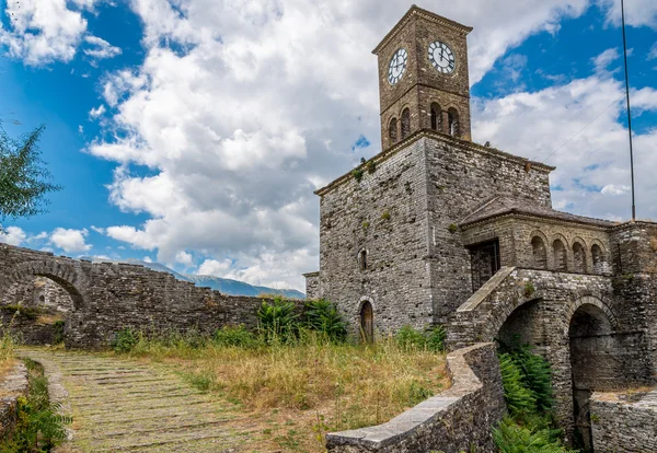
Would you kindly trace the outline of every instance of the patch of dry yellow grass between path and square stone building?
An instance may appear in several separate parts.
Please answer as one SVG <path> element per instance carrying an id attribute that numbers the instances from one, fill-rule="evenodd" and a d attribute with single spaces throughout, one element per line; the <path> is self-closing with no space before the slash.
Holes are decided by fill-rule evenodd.
<path id="1" fill-rule="evenodd" d="M 443 353 L 392 337 L 362 345 L 303 332 L 266 344 L 242 330 L 240 340 L 200 346 L 138 337 L 129 356 L 175 365 L 199 390 L 237 404 L 260 433 L 250 440 L 256 450 L 324 451 L 326 432 L 382 423 L 449 385 Z"/>

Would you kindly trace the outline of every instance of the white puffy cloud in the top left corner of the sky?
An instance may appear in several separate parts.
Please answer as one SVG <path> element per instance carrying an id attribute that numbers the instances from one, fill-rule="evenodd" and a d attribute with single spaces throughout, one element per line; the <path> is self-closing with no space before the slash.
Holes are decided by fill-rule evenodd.
<path id="1" fill-rule="evenodd" d="M 4 13 L 9 28 L 0 23 L 0 45 L 25 65 L 70 61 L 87 32 L 82 10 L 94 3 L 95 0 L 78 0 L 74 5 L 66 0 L 8 1 Z"/>

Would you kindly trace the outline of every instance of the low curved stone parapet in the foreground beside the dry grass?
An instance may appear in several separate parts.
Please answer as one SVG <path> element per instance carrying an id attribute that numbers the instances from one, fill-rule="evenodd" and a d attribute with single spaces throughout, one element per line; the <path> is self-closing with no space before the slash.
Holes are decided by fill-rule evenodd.
<path id="1" fill-rule="evenodd" d="M 499 363 L 493 344 L 479 344 L 447 356 L 452 386 L 387 423 L 330 433 L 334 453 L 493 452 L 493 428 L 504 403 Z"/>

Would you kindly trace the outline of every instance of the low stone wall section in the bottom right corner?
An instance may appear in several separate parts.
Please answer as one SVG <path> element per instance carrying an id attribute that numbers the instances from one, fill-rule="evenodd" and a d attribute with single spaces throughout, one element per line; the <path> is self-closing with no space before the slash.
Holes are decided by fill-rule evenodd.
<path id="1" fill-rule="evenodd" d="M 657 393 L 595 393 L 591 420 L 596 453 L 657 452 Z"/>

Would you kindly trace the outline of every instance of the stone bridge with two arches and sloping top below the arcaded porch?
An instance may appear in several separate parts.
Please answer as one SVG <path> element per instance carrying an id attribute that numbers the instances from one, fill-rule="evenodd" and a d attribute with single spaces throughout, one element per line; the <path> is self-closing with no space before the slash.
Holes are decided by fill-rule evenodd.
<path id="1" fill-rule="evenodd" d="M 534 346 L 552 364 L 563 426 L 570 435 L 577 428 L 590 438 L 592 392 L 653 382 L 654 326 L 637 291 L 653 286 L 648 275 L 614 279 L 505 267 L 458 309 L 448 342 L 451 349 L 518 339 Z"/>

